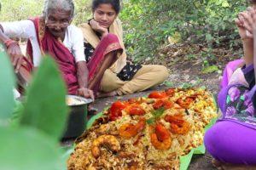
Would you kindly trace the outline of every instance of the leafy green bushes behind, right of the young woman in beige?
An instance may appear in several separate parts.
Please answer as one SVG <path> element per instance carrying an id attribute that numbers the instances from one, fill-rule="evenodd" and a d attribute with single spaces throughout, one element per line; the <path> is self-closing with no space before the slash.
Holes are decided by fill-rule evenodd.
<path id="1" fill-rule="evenodd" d="M 247 5 L 247 0 L 126 0 L 120 17 L 128 54 L 137 61 L 159 57 L 159 47 L 175 32 L 207 48 L 241 47 L 234 19 Z"/>

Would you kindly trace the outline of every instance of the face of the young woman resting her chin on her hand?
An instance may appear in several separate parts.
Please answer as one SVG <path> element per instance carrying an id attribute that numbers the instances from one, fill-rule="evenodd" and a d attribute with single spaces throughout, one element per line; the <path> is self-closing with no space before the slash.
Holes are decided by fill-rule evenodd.
<path id="1" fill-rule="evenodd" d="M 100 26 L 108 28 L 112 25 L 113 20 L 115 20 L 117 17 L 117 14 L 111 4 L 102 3 L 93 11 L 93 17 L 94 20 L 100 24 Z"/>

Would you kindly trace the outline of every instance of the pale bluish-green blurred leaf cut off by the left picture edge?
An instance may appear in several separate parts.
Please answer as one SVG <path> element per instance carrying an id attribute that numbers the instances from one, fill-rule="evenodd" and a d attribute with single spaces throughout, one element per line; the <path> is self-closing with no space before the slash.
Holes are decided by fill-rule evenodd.
<path id="1" fill-rule="evenodd" d="M 0 52 L 0 125 L 11 116 L 14 105 L 15 75 L 9 57 Z"/>

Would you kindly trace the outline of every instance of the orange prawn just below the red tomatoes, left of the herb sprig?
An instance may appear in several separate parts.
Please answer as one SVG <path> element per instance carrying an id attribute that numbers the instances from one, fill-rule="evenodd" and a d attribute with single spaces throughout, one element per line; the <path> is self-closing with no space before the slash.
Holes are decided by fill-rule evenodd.
<path id="1" fill-rule="evenodd" d="M 141 120 L 136 125 L 131 123 L 125 123 L 119 127 L 119 135 L 125 138 L 131 138 L 137 135 L 140 131 L 142 131 L 146 127 L 145 120 Z"/>

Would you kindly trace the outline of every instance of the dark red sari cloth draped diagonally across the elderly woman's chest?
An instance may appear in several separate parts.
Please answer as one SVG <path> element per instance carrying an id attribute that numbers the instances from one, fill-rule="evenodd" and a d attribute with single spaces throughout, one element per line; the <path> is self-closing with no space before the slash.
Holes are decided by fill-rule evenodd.
<path id="1" fill-rule="evenodd" d="M 79 83 L 73 54 L 50 34 L 45 26 L 43 18 L 37 17 L 32 19 L 32 22 L 36 28 L 38 44 L 42 54 L 50 54 L 55 59 L 61 70 L 64 81 L 67 84 L 68 94 L 76 94 L 79 88 Z M 32 46 L 30 42 L 27 44 L 27 53 L 32 60 Z"/>

